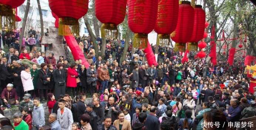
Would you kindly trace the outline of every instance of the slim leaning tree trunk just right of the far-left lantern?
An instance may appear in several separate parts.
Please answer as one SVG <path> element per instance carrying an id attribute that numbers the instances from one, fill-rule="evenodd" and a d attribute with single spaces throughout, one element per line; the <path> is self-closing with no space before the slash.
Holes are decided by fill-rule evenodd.
<path id="1" fill-rule="evenodd" d="M 27 0 L 27 5 L 26 5 L 25 14 L 24 14 L 23 23 L 22 23 L 22 30 L 21 30 L 21 34 L 20 34 L 20 41 L 19 41 L 20 50 L 21 50 L 21 46 L 22 46 L 22 43 L 23 43 L 23 37 L 24 37 L 24 32 L 25 32 L 25 26 L 26 26 L 26 22 L 27 22 L 29 7 L 30 7 L 30 0 Z"/>

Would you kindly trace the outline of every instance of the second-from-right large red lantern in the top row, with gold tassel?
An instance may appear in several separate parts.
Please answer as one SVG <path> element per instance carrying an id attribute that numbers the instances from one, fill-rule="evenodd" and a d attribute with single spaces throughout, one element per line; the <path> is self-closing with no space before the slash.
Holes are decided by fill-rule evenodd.
<path id="1" fill-rule="evenodd" d="M 179 1 L 178 24 L 171 38 L 175 41 L 174 51 L 186 51 L 186 42 L 188 42 L 193 33 L 194 25 L 194 8 L 189 1 Z"/>

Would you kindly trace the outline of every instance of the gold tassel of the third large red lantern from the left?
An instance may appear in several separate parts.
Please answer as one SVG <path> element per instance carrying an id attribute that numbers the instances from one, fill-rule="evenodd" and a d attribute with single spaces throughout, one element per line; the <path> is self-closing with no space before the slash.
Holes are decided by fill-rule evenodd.
<path id="1" fill-rule="evenodd" d="M 101 25 L 101 37 L 109 38 L 111 40 L 117 39 L 117 37 L 118 37 L 117 25 L 102 23 L 102 25 Z"/>

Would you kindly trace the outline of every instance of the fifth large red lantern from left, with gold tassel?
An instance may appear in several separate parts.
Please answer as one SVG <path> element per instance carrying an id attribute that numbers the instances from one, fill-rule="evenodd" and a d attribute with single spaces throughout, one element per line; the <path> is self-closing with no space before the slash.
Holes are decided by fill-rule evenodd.
<path id="1" fill-rule="evenodd" d="M 158 13 L 155 32 L 157 44 L 169 45 L 170 35 L 176 28 L 179 13 L 179 0 L 158 0 Z"/>

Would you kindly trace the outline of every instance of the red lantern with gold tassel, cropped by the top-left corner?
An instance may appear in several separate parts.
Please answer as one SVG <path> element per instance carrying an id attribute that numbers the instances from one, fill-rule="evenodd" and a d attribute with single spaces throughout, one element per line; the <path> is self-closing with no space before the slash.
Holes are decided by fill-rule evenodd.
<path id="1" fill-rule="evenodd" d="M 5 26 L 11 30 L 15 27 L 15 21 L 16 21 L 16 16 L 15 16 L 16 12 L 14 8 L 19 7 L 21 4 L 24 3 L 24 1 L 25 0 L 0 0 L 0 16 L 5 17 L 4 18 L 5 19 L 4 22 L 6 23 Z M 21 20 L 21 19 L 18 19 L 17 17 L 17 20 Z M 2 25 L 0 25 L 0 29 L 1 27 Z"/>

